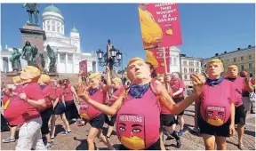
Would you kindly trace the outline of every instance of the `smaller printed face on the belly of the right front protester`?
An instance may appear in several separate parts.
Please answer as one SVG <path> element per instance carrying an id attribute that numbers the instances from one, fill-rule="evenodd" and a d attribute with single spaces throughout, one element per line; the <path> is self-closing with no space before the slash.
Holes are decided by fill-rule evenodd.
<path id="1" fill-rule="evenodd" d="M 206 121 L 213 126 L 220 126 L 225 121 L 225 107 L 206 107 Z"/>

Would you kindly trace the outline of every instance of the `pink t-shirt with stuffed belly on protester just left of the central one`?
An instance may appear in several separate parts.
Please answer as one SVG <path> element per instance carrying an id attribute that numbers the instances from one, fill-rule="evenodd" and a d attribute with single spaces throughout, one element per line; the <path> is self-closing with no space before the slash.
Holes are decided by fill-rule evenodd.
<path id="1" fill-rule="evenodd" d="M 88 91 L 90 91 L 90 88 L 88 89 Z M 103 92 L 100 87 L 100 89 L 95 93 L 93 93 L 90 96 L 90 98 L 101 104 L 104 104 L 106 101 L 106 95 L 107 95 L 107 92 Z M 94 117 L 101 114 L 100 110 L 96 109 L 95 107 L 92 107 L 92 105 L 88 104 L 86 101 L 82 101 L 79 110 L 80 110 L 80 115 L 85 120 L 92 120 Z"/>

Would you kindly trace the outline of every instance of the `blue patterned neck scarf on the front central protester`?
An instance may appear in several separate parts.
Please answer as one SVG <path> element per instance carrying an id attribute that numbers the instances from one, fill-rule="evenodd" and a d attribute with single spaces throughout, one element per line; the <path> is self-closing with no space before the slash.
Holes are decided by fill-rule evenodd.
<path id="1" fill-rule="evenodd" d="M 132 84 L 130 86 L 130 91 L 129 94 L 132 98 L 142 98 L 142 96 L 144 95 L 144 93 L 146 91 L 148 91 L 149 88 L 149 83 L 146 83 L 144 85 L 137 85 L 137 84 Z"/>

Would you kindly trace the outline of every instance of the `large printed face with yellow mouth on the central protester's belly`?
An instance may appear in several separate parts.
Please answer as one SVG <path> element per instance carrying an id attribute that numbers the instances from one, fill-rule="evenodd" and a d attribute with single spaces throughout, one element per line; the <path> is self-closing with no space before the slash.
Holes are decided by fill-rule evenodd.
<path id="1" fill-rule="evenodd" d="M 117 130 L 121 143 L 129 149 L 145 148 L 145 123 L 143 115 L 119 115 Z"/>

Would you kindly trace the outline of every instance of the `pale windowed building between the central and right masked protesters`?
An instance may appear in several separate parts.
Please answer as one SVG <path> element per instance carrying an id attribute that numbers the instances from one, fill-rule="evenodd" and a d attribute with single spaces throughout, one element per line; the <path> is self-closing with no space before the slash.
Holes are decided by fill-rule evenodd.
<path id="1" fill-rule="evenodd" d="M 201 58 L 187 57 L 185 54 L 180 54 L 180 76 L 186 86 L 192 86 L 190 76 L 196 72 L 202 73 Z"/>

